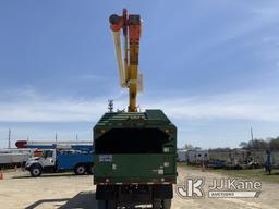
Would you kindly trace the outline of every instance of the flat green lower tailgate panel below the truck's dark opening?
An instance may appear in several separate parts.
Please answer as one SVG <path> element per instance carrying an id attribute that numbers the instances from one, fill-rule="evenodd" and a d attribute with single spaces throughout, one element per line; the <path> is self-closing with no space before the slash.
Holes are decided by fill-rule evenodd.
<path id="1" fill-rule="evenodd" d="M 109 160 L 106 156 L 110 156 Z M 105 157 L 105 158 L 104 158 Z M 163 177 L 175 175 L 175 155 L 96 155 L 96 177 Z"/>

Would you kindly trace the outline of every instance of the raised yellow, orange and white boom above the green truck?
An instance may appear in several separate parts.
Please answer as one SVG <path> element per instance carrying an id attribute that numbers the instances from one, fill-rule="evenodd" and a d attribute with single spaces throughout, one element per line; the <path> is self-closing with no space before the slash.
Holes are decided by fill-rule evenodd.
<path id="1" fill-rule="evenodd" d="M 137 91 L 142 90 L 143 83 L 143 76 L 138 74 L 138 52 L 142 27 L 141 16 L 137 14 L 128 15 L 124 9 L 122 16 L 112 14 L 109 21 L 110 29 L 113 34 L 120 86 L 129 88 L 129 112 L 136 112 L 136 96 Z M 121 29 L 124 35 L 124 63 L 120 37 Z"/>

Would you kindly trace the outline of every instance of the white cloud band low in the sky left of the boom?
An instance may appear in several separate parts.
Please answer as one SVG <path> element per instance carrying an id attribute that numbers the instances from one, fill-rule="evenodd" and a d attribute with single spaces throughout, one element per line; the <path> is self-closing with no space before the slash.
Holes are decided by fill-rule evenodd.
<path id="1" fill-rule="evenodd" d="M 2 122 L 93 121 L 106 110 L 100 101 L 29 101 L 0 104 Z"/>

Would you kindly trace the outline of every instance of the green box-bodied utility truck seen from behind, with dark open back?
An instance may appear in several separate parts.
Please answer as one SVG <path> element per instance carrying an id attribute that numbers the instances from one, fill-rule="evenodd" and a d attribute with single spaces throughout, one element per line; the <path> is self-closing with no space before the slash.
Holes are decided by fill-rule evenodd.
<path id="1" fill-rule="evenodd" d="M 94 127 L 94 145 L 97 199 L 121 206 L 172 198 L 177 127 L 161 110 L 105 113 Z"/>

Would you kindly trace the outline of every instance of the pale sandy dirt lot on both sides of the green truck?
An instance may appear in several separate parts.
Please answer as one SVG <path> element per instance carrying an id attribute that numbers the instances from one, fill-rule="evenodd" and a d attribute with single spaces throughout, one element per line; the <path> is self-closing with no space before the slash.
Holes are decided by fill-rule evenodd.
<path id="1" fill-rule="evenodd" d="M 179 168 L 179 182 L 185 176 L 204 176 L 206 184 L 214 177 L 225 177 L 216 172 Z M 172 209 L 278 209 L 279 184 L 263 183 L 259 198 L 182 199 L 175 195 Z M 29 177 L 26 172 L 5 173 L 0 180 L 0 208 L 5 209 L 94 209 L 95 187 L 92 176 L 75 176 L 70 173 Z"/>

